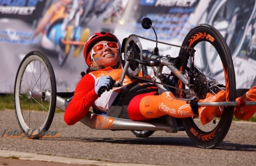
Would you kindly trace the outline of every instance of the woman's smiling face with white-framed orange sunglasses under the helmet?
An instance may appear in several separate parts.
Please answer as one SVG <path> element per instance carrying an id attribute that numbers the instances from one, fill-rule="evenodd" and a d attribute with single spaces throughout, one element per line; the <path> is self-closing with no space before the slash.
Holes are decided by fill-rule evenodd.
<path id="1" fill-rule="evenodd" d="M 106 40 L 97 42 L 94 47 L 92 47 L 91 55 L 94 60 L 90 62 L 90 67 L 113 67 L 120 62 L 118 44 Z"/>

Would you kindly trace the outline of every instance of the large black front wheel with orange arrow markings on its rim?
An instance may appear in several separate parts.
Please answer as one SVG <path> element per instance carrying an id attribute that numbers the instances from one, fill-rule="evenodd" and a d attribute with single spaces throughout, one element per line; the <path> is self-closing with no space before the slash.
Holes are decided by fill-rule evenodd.
<path id="1" fill-rule="evenodd" d="M 211 25 L 200 24 L 195 26 L 185 37 L 182 46 L 193 47 L 195 49 L 195 66 L 197 69 L 206 75 L 207 81 L 212 82 L 207 92 L 212 94 L 220 90 L 226 91 L 226 101 L 235 101 L 236 84 L 233 60 L 230 50 L 220 32 Z M 202 55 L 202 46 L 207 49 L 206 55 Z M 208 48 L 210 47 L 210 48 Z M 214 59 L 210 59 L 210 57 Z M 203 65 L 202 58 L 207 58 Z M 189 53 L 186 49 L 179 52 L 181 63 L 179 70 L 183 73 L 190 68 Z M 221 70 L 220 70 L 221 68 Z M 221 72 L 220 72 L 221 71 Z M 213 81 L 214 80 L 214 81 Z M 223 85 L 223 86 L 222 86 Z M 177 87 L 184 89 L 185 85 L 179 80 Z M 178 91 L 179 98 L 189 98 L 184 91 Z M 199 119 L 184 118 L 182 119 L 185 131 L 191 140 L 199 147 L 212 148 L 217 146 L 225 138 L 230 128 L 234 107 L 221 107 L 223 112 L 221 117 L 214 117 L 212 122 L 202 125 Z"/>

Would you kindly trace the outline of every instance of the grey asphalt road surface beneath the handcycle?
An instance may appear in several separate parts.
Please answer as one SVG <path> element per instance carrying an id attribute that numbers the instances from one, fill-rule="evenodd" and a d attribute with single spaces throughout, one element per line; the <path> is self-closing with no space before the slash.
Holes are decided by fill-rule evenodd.
<path id="1" fill-rule="evenodd" d="M 0 134 L 20 130 L 15 111 L 0 111 Z M 149 138 L 137 138 L 130 131 L 93 130 L 78 122 L 67 126 L 63 113 L 56 113 L 49 130 L 56 137 L 30 140 L 0 138 L 1 150 L 21 151 L 69 158 L 116 163 L 156 165 L 230 165 L 256 164 L 256 123 L 233 122 L 217 148 L 198 148 L 185 132 L 155 132 Z"/>

